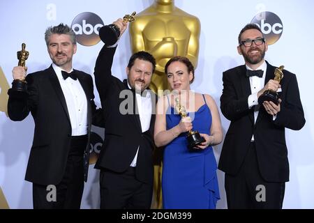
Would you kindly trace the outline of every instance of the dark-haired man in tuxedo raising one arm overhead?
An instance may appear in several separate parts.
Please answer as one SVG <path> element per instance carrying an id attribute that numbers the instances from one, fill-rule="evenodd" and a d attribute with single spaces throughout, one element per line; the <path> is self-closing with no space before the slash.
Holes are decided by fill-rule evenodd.
<path id="1" fill-rule="evenodd" d="M 113 24 L 120 36 L 127 28 L 121 19 Z M 95 166 L 100 169 L 100 208 L 149 208 L 156 95 L 147 88 L 156 61 L 147 52 L 133 54 L 128 78 L 121 82 L 111 73 L 116 49 L 117 43 L 103 46 L 94 72 L 105 117 L 105 141 Z"/>

